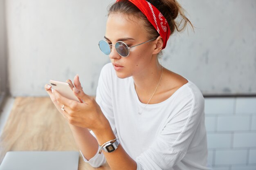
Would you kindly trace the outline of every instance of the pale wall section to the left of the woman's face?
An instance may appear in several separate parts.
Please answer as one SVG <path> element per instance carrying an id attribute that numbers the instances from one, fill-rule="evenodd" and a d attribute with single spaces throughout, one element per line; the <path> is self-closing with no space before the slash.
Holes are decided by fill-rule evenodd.
<path id="1" fill-rule="evenodd" d="M 13 96 L 47 95 L 49 79 L 78 73 L 89 95 L 108 57 L 99 51 L 106 25 L 102 0 L 8 0 L 9 79 Z"/>

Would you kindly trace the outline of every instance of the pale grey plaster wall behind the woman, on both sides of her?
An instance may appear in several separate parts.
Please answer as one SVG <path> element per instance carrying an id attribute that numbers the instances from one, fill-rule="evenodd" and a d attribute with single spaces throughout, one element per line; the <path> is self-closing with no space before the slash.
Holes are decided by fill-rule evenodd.
<path id="1" fill-rule="evenodd" d="M 113 2 L 113 1 L 111 1 Z M 8 0 L 9 80 L 13 96 L 47 95 L 49 79 L 78 73 L 95 95 L 98 49 L 110 0 Z M 195 33 L 173 35 L 163 65 L 209 94 L 256 94 L 256 1 L 182 0 Z"/>

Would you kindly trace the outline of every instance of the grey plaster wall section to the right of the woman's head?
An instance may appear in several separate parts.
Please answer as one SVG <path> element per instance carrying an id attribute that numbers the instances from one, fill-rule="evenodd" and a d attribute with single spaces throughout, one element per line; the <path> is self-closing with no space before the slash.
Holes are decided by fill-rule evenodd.
<path id="1" fill-rule="evenodd" d="M 169 68 L 203 94 L 256 94 L 256 0 L 182 2 L 197 29 L 169 41 Z"/>

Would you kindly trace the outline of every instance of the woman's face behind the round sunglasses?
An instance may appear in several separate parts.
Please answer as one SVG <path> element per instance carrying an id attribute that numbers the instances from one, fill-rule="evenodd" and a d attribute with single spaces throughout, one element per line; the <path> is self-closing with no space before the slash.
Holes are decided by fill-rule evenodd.
<path id="1" fill-rule="evenodd" d="M 109 55 L 112 64 L 123 66 L 115 69 L 119 78 L 137 75 L 146 71 L 150 64 L 155 62 L 152 57 L 155 40 L 131 48 L 128 57 L 121 57 L 115 50 L 117 41 L 122 41 L 130 47 L 149 40 L 143 21 L 137 17 L 122 13 L 110 14 L 105 38 L 109 44 L 113 44 Z"/>

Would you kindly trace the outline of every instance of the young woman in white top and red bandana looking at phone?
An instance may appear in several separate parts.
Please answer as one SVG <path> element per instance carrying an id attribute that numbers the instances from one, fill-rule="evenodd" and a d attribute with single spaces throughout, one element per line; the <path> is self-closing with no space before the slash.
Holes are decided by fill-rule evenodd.
<path id="1" fill-rule="evenodd" d="M 73 91 L 83 103 L 45 85 L 91 166 L 107 161 L 112 170 L 209 169 L 204 97 L 157 59 L 169 36 L 182 30 L 179 13 L 184 29 L 191 23 L 175 0 L 117 0 L 106 40 L 99 42 L 111 63 L 101 70 L 96 101 L 83 92 L 78 75 Z"/>

